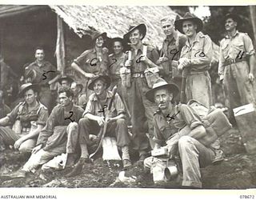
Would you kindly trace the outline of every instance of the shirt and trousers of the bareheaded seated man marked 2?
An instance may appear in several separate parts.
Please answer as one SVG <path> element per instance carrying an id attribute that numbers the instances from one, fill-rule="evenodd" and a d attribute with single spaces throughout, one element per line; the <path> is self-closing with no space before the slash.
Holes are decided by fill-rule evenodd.
<path id="1" fill-rule="evenodd" d="M 54 156 L 62 153 L 75 153 L 78 144 L 78 121 L 82 118 L 83 109 L 73 105 L 72 114 L 65 116 L 64 107 L 57 105 L 47 119 L 46 126 L 38 136 L 37 146 L 42 149 L 32 154 L 22 170 L 34 171 Z"/>

